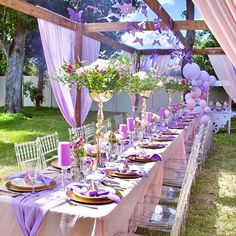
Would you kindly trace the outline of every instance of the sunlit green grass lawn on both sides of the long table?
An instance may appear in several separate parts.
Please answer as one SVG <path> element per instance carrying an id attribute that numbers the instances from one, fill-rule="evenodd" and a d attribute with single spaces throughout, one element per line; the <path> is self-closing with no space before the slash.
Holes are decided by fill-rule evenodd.
<path id="1" fill-rule="evenodd" d="M 95 121 L 90 112 L 85 123 Z M 114 115 L 106 113 L 105 117 Z M 0 184 L 18 170 L 14 143 L 59 133 L 68 140 L 69 125 L 58 109 L 25 108 L 25 115 L 4 114 L 0 108 Z M 232 134 L 225 130 L 214 135 L 211 153 L 192 189 L 186 235 L 236 235 L 236 121 Z"/>

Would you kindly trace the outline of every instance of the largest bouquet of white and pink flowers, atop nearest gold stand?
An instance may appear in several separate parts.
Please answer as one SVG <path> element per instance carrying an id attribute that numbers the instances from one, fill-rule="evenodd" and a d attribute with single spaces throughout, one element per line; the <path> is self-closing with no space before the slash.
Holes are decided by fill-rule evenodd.
<path id="1" fill-rule="evenodd" d="M 87 87 L 90 91 L 103 93 L 109 90 L 121 91 L 130 73 L 126 57 L 98 59 L 89 66 L 83 64 L 63 64 L 57 79 L 69 87 Z"/>

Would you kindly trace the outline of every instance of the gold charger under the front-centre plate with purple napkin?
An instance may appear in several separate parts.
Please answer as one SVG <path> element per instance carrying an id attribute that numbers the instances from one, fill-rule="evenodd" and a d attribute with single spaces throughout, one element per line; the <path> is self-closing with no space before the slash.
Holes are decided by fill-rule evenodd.
<path id="1" fill-rule="evenodd" d="M 81 203 L 88 203 L 88 204 L 105 204 L 105 203 L 112 203 L 113 201 L 107 197 L 87 197 L 87 196 L 78 196 L 74 194 L 73 190 L 70 189 L 66 192 L 67 197 L 70 200 L 75 202 Z"/>

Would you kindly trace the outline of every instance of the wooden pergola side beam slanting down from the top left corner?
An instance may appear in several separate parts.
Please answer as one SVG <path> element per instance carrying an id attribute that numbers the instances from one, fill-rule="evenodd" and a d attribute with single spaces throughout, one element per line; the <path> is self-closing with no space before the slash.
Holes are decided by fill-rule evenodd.
<path id="1" fill-rule="evenodd" d="M 55 12 L 49 11 L 48 9 L 45 9 L 40 6 L 34 6 L 30 3 L 27 3 L 25 1 L 21 0 L 0 0 L 0 5 L 3 5 L 5 7 L 20 11 L 22 13 L 25 13 L 27 15 L 47 20 L 51 23 L 54 23 L 56 25 L 60 25 L 62 27 L 65 27 L 70 30 L 74 30 L 79 23 L 71 21 L 70 19 L 61 16 Z M 83 29 L 84 32 L 84 29 Z M 117 42 L 111 38 L 106 37 L 105 35 L 102 35 L 100 33 L 83 33 L 84 35 L 99 40 L 102 43 L 108 44 L 110 46 L 116 47 L 118 49 L 128 51 L 130 53 L 134 53 L 135 49 L 127 46 L 123 43 Z"/>

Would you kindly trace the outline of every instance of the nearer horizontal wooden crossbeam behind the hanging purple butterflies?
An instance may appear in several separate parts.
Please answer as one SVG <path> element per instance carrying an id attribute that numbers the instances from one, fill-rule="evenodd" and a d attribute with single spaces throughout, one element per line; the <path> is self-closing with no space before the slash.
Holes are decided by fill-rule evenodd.
<path id="1" fill-rule="evenodd" d="M 139 24 L 140 22 L 129 22 Z M 126 22 L 103 22 L 103 23 L 86 23 L 84 24 L 84 32 L 113 32 L 124 31 L 128 23 Z M 161 27 L 165 28 L 167 23 L 161 22 Z M 146 22 L 143 31 L 155 30 L 152 21 Z M 203 20 L 189 20 L 189 21 L 173 21 L 173 30 L 208 30 L 208 26 Z"/>

